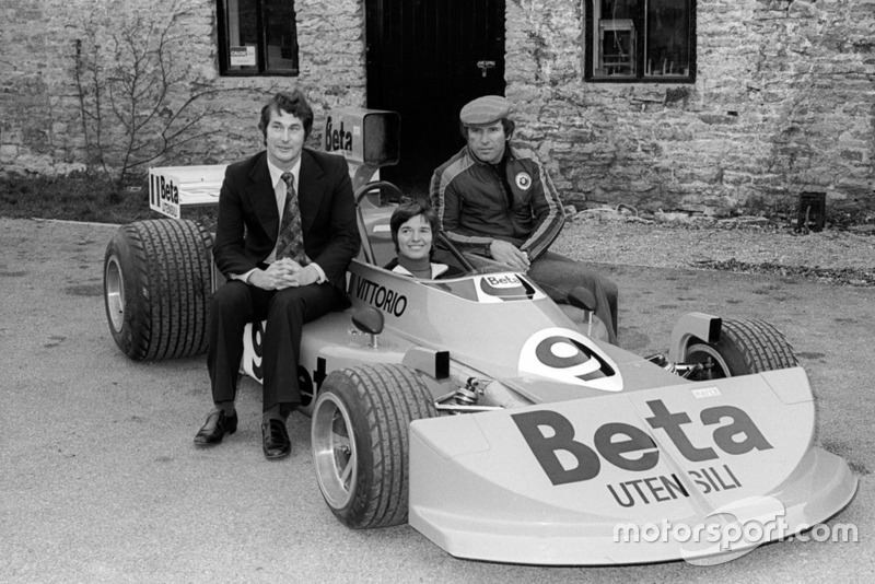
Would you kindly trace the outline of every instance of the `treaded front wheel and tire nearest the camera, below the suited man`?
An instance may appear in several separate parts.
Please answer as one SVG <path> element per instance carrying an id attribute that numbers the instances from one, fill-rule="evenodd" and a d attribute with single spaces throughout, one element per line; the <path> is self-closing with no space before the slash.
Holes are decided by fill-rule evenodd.
<path id="1" fill-rule="evenodd" d="M 335 371 L 313 409 L 316 478 L 325 502 L 352 528 L 407 522 L 408 427 L 436 416 L 425 383 L 401 365 Z"/>

